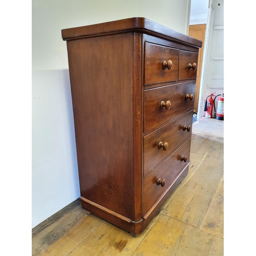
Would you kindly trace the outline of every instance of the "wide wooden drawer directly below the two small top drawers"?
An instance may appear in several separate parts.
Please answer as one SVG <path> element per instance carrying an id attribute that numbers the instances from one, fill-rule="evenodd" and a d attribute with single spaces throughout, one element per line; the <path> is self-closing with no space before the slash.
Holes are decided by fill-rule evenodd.
<path id="1" fill-rule="evenodd" d="M 196 82 L 187 82 L 145 90 L 144 133 L 193 109 L 195 85 Z"/>

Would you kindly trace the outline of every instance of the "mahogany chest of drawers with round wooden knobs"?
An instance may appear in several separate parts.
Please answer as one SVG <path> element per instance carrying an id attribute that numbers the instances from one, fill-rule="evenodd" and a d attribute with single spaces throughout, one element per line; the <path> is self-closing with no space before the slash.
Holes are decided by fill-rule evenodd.
<path id="1" fill-rule="evenodd" d="M 82 207 L 139 234 L 188 171 L 202 42 L 140 17 L 61 32 Z"/>

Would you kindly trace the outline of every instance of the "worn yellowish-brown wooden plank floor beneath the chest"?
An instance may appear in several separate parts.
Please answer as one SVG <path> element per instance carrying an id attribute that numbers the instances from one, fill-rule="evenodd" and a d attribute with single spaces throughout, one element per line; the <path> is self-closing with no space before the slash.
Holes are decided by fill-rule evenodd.
<path id="1" fill-rule="evenodd" d="M 223 255 L 223 136 L 193 133 L 190 160 L 188 175 L 139 237 L 76 200 L 33 228 L 32 255 Z"/>

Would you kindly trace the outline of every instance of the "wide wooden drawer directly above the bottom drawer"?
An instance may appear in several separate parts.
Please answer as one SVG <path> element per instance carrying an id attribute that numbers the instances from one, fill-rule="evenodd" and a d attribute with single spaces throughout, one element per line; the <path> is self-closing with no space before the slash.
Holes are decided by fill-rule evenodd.
<path id="1" fill-rule="evenodd" d="M 191 137 L 192 121 L 193 110 L 143 138 L 144 176 Z"/>

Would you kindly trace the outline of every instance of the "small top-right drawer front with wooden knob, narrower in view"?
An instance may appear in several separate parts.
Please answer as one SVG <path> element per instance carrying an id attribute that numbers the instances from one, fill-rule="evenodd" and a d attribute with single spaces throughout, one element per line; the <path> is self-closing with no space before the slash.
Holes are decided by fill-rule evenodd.
<path id="1" fill-rule="evenodd" d="M 198 53 L 180 50 L 179 80 L 197 77 Z"/>

